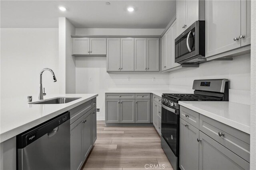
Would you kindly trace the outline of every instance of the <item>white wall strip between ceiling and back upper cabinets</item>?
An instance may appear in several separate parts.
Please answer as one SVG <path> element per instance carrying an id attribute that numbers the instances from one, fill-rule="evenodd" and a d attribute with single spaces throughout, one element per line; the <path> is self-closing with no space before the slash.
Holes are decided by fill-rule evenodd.
<path id="1" fill-rule="evenodd" d="M 76 35 L 161 35 L 164 29 L 76 28 Z"/>

